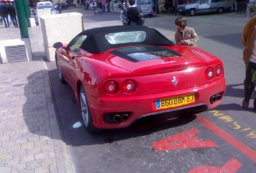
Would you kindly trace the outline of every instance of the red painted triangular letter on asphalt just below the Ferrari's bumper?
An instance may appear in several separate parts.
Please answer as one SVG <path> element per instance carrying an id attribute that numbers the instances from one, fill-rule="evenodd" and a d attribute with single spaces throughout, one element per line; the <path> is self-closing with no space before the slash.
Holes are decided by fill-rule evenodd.
<path id="1" fill-rule="evenodd" d="M 218 146 L 213 141 L 201 141 L 195 136 L 198 133 L 199 131 L 193 128 L 171 137 L 167 137 L 161 141 L 153 143 L 152 145 L 155 150 L 158 151 Z"/>

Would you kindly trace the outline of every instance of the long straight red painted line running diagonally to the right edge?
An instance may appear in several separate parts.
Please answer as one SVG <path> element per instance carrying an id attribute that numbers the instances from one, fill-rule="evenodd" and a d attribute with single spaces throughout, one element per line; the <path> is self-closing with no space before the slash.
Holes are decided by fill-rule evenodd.
<path id="1" fill-rule="evenodd" d="M 252 161 L 256 162 L 256 151 L 233 137 L 232 135 L 229 135 L 229 133 L 223 131 L 220 127 L 213 124 L 211 121 L 203 117 L 202 115 L 197 114 L 197 121 L 202 123 L 205 127 L 210 129 L 215 135 L 221 137 L 224 141 L 228 142 L 230 145 L 235 147 L 240 152 L 244 153 L 247 157 L 252 159 Z"/>

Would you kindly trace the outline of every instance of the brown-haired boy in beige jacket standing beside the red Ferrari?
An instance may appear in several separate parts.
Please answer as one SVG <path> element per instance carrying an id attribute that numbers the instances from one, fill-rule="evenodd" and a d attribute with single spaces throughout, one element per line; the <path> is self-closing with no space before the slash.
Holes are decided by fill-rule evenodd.
<path id="1" fill-rule="evenodd" d="M 196 47 L 196 42 L 199 39 L 193 28 L 187 27 L 186 18 L 180 16 L 175 19 L 175 42 L 178 45 L 188 45 Z"/>

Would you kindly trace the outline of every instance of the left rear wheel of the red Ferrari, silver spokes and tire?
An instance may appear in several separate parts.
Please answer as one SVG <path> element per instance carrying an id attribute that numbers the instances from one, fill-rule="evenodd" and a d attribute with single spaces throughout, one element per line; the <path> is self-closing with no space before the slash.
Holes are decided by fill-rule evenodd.
<path id="1" fill-rule="evenodd" d="M 89 109 L 88 101 L 85 94 L 85 88 L 83 87 L 83 84 L 81 84 L 81 87 L 79 90 L 79 99 L 80 99 L 81 114 L 82 114 L 82 118 L 83 118 L 83 122 L 85 124 L 86 130 L 89 133 L 97 133 L 102 131 L 102 129 L 97 129 L 93 125 L 93 117 L 91 116 L 91 112 Z"/>

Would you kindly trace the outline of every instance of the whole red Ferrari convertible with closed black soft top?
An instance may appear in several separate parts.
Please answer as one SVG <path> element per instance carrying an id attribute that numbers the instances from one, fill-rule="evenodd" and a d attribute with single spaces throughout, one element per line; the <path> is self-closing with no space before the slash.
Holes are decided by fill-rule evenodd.
<path id="1" fill-rule="evenodd" d="M 59 78 L 72 87 L 91 133 L 213 109 L 225 92 L 221 60 L 147 26 L 85 30 L 54 48 Z"/>

